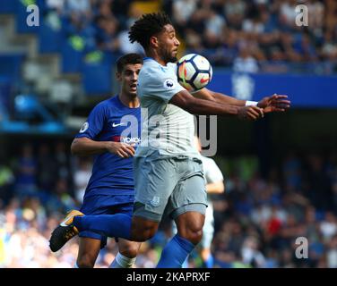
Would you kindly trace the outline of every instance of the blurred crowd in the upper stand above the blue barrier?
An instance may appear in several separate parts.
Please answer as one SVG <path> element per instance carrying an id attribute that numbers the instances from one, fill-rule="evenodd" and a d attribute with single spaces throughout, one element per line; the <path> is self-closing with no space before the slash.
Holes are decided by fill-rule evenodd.
<path id="1" fill-rule="evenodd" d="M 332 73 L 337 61 L 337 3 L 333 0 L 163 0 L 186 53 L 235 71 Z M 142 53 L 128 28 L 143 13 L 130 0 L 49 0 L 44 13 L 85 51 Z M 300 17 L 306 4 L 307 18 Z M 307 26 L 298 26 L 307 19 Z M 81 42 L 81 43 L 80 43 Z M 77 45 L 76 44 L 76 45 Z"/>

